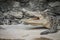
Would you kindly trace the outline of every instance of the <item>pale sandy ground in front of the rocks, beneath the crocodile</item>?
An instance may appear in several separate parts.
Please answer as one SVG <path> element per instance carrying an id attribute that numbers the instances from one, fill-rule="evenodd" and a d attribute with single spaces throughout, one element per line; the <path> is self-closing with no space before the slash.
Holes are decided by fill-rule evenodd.
<path id="1" fill-rule="evenodd" d="M 60 31 L 48 35 L 40 35 L 46 29 L 26 29 L 26 25 L 3 25 L 0 29 L 1 39 L 20 39 L 20 40 L 42 40 L 39 38 L 48 38 L 46 40 L 60 40 Z M 45 39 L 44 39 L 45 40 Z"/>

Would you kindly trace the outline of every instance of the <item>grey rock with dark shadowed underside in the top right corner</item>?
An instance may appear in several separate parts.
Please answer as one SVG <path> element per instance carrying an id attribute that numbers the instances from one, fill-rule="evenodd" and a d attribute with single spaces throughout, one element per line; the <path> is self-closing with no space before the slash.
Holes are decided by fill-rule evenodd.
<path id="1" fill-rule="evenodd" d="M 56 15 L 60 15 L 60 2 L 59 1 L 51 2 L 49 3 L 49 5 L 52 8 L 50 12 Z"/>

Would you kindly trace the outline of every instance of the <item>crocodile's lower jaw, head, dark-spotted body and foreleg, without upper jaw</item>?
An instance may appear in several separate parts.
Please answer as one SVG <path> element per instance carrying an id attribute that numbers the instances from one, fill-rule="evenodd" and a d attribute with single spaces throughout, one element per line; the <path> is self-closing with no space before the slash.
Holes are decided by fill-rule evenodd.
<path id="1" fill-rule="evenodd" d="M 36 18 L 29 18 L 26 19 L 24 22 L 31 25 L 42 25 L 43 27 L 48 28 L 48 30 L 42 32 L 41 35 L 57 32 L 57 26 L 58 26 L 57 17 L 52 15 L 47 15 L 46 12 L 42 12 L 42 13 L 40 14 L 40 16 L 39 15 L 36 16 L 34 14 Z"/>

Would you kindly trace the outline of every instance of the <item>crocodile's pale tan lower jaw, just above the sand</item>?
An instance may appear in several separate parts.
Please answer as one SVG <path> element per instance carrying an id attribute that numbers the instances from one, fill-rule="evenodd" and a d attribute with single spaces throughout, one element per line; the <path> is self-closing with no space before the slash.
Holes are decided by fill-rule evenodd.
<path id="1" fill-rule="evenodd" d="M 39 26 L 39 27 L 46 27 L 46 28 L 50 28 L 50 24 L 49 23 L 40 23 L 40 22 L 32 22 L 32 21 L 25 21 L 25 24 L 29 24 L 29 25 L 33 25 L 33 26 Z"/>

